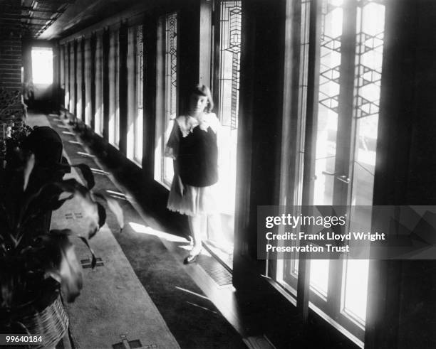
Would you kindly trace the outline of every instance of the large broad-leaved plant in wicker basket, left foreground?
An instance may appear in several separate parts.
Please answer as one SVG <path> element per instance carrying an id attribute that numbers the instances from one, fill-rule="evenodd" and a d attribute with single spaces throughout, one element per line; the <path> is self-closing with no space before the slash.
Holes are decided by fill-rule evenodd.
<path id="1" fill-rule="evenodd" d="M 102 201 L 120 226 L 123 213 L 115 200 L 92 192 L 88 166 L 74 166 L 85 179 L 83 186 L 76 179 L 62 179 L 71 165 L 38 161 L 37 148 L 32 153 L 17 145 L 9 151 L 8 163 L 0 168 L 0 333 L 41 335 L 41 347 L 46 348 L 56 345 L 68 328 L 60 294 L 73 301 L 81 291 L 82 270 L 73 240 L 89 247 L 88 240 L 105 223 Z M 50 230 L 51 211 L 67 200 L 76 200 L 85 213 L 87 225 L 81 232 L 68 227 Z M 91 249 L 90 254 L 94 267 Z"/>

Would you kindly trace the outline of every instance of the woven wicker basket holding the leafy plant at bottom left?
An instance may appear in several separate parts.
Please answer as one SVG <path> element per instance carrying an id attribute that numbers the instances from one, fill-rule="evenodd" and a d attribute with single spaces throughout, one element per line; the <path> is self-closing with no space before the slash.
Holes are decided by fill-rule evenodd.
<path id="1" fill-rule="evenodd" d="M 68 315 L 63 309 L 61 296 L 40 312 L 21 318 L 31 335 L 41 335 L 43 343 L 32 348 L 54 348 L 68 329 Z"/>

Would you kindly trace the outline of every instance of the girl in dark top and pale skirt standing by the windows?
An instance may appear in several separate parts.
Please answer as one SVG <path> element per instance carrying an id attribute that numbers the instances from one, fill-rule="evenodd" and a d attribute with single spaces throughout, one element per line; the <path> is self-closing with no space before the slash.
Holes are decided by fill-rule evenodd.
<path id="1" fill-rule="evenodd" d="M 195 262 L 202 249 L 201 222 L 217 211 L 218 181 L 217 130 L 219 120 L 212 113 L 214 102 L 208 87 L 197 85 L 190 96 L 187 115 L 177 117 L 167 142 L 165 155 L 174 159 L 167 208 L 188 216 L 194 247 L 185 264 Z"/>

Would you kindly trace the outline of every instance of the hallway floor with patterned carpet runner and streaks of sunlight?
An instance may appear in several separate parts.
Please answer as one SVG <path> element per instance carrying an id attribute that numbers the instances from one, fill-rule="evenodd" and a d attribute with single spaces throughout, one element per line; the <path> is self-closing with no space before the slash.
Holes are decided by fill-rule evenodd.
<path id="1" fill-rule="evenodd" d="M 207 252 L 201 256 L 204 262 L 182 264 L 188 240 L 164 231 L 143 211 L 89 152 L 67 119 L 30 112 L 27 124 L 56 129 L 68 161 L 90 166 L 95 190 L 113 193 L 124 212 L 122 232 L 108 214 L 107 225 L 90 240 L 98 258 L 95 269 L 90 269 L 88 249 L 75 242 L 84 287 L 67 307 L 73 348 L 122 348 L 117 343 L 123 342 L 123 336 L 140 340 L 142 348 L 246 348 L 242 335 L 222 315 L 242 331 L 232 305 L 233 286 L 219 286 L 202 266 L 212 264 L 222 274 L 227 270 Z M 71 176 L 79 175 L 75 171 Z M 80 225 L 81 218 L 81 208 L 67 203 L 53 213 L 51 228 Z"/>

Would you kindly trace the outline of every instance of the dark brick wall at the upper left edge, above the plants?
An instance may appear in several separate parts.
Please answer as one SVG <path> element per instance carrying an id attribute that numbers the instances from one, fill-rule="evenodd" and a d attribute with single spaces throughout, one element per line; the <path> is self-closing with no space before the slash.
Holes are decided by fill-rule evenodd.
<path id="1" fill-rule="evenodd" d="M 20 0 L 8 0 L 1 11 L 4 17 L 0 26 L 0 116 L 11 114 L 20 116 L 23 112 L 21 105 L 21 28 L 16 16 L 21 14 Z M 15 18 L 14 18 L 15 17 Z"/>

